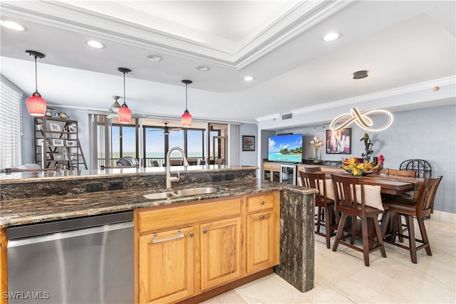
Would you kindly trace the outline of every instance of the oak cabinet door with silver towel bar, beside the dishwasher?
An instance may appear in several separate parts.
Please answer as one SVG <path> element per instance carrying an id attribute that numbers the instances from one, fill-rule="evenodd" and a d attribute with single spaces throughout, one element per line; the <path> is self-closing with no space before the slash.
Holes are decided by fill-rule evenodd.
<path id="1" fill-rule="evenodd" d="M 171 303 L 193 294 L 193 239 L 193 227 L 140 236 L 140 303 Z"/>

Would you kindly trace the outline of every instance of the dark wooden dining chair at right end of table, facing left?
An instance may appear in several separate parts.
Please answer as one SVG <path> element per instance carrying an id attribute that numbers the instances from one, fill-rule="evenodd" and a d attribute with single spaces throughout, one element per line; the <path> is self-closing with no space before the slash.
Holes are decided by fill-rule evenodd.
<path id="1" fill-rule="evenodd" d="M 385 238 L 385 241 L 410 251 L 412 263 L 417 263 L 416 252 L 420 249 L 425 248 L 427 256 L 432 256 L 424 220 L 426 216 L 432 214 L 435 194 L 437 193 L 437 187 L 439 186 L 441 180 L 441 176 L 435 179 L 425 179 L 420 187 L 420 191 L 418 192 L 418 200 L 416 204 L 410 204 L 408 199 L 403 199 L 399 196 L 391 196 L 383 201 L 383 204 L 385 204 L 388 208 L 385 216 L 385 222 L 382 226 L 382 235 L 386 236 L 388 224 L 390 221 L 393 221 L 391 225 L 393 227 L 393 231 L 391 232 L 390 237 Z M 407 229 L 404 231 L 401 231 L 402 216 L 405 217 L 405 224 L 407 226 Z M 415 236 L 415 226 L 413 223 L 413 219 L 415 218 L 418 220 L 421 239 L 417 239 Z M 408 231 L 408 234 L 405 234 L 406 231 Z M 396 237 L 408 239 L 409 246 L 396 242 Z M 421 245 L 417 247 L 417 243 L 421 243 Z"/>

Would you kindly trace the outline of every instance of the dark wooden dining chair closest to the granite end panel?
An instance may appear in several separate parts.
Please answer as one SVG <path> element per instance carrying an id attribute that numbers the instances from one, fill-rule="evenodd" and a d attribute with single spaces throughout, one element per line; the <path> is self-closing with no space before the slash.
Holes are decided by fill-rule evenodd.
<path id="1" fill-rule="evenodd" d="M 318 189 L 320 194 L 316 194 L 315 206 L 318 208 L 315 221 L 315 234 L 326 238 L 326 247 L 331 248 L 331 236 L 335 236 L 337 228 L 336 216 L 334 214 L 334 201 L 328 198 L 328 190 L 332 193 L 332 184 L 329 184 L 331 189 L 328 189 L 327 181 L 324 173 L 308 173 L 301 172 L 301 183 L 304 187 Z M 321 227 L 324 227 L 325 232 L 321 232 Z"/>

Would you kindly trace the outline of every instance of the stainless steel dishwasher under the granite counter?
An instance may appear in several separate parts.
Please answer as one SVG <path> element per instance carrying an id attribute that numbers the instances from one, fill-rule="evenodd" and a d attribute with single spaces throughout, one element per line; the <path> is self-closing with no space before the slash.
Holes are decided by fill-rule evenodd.
<path id="1" fill-rule="evenodd" d="M 133 211 L 7 229 L 9 303 L 134 302 Z"/>

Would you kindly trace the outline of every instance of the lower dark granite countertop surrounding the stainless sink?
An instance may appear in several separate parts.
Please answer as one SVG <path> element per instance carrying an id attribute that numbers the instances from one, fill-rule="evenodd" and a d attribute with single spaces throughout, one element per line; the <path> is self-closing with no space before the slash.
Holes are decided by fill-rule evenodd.
<path id="1" fill-rule="evenodd" d="M 199 166 L 195 166 L 199 167 Z M 204 166 L 201 166 L 204 167 Z M 232 169 L 232 168 L 231 168 Z M 242 194 L 270 192 L 289 189 L 300 194 L 314 194 L 316 189 L 269 182 L 261 179 L 249 181 L 223 181 L 211 184 L 192 184 L 180 188 L 191 187 L 223 187 L 224 191 L 197 196 L 181 196 L 175 199 L 145 199 L 142 195 L 153 192 L 163 192 L 165 189 L 129 189 L 83 194 L 68 194 L 62 196 L 43 196 L 30 199 L 10 199 L 1 201 L 0 227 L 34 224 L 43 221 L 72 219 L 82 216 L 108 214 L 119 211 L 129 211 L 137 208 L 178 204 L 186 201 L 216 199 Z"/>

